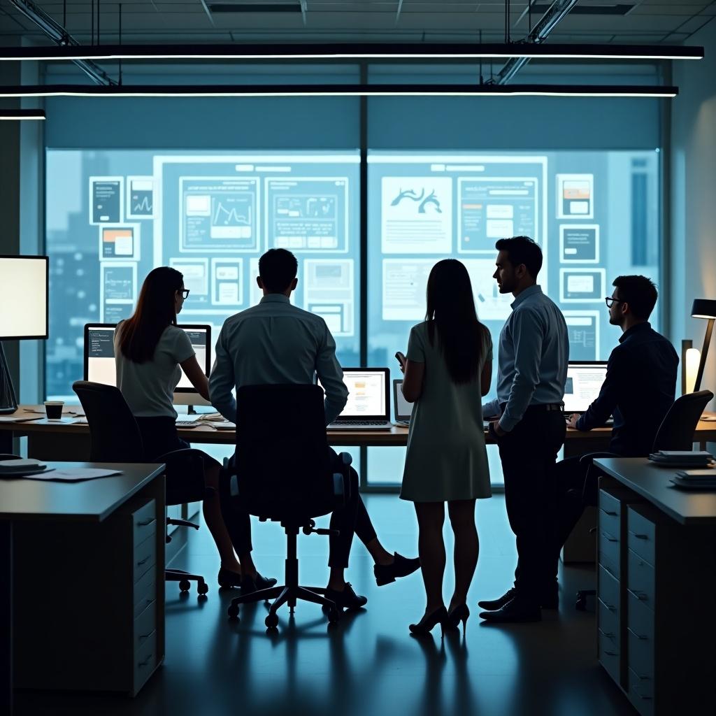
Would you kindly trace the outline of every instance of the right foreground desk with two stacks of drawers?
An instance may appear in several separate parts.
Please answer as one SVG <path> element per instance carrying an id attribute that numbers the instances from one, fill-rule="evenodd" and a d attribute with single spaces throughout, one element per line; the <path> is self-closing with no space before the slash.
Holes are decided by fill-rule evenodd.
<path id="1" fill-rule="evenodd" d="M 716 491 L 645 458 L 594 465 L 599 662 L 643 716 L 716 713 Z"/>

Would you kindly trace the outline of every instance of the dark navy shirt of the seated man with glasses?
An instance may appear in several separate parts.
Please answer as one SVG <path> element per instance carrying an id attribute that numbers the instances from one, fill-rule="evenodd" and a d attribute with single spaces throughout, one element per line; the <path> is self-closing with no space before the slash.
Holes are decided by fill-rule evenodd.
<path id="1" fill-rule="evenodd" d="M 577 429 L 599 427 L 613 415 L 610 450 L 633 457 L 649 455 L 674 402 L 678 365 L 672 344 L 649 323 L 632 326 L 611 352 L 599 397 L 579 418 Z"/>

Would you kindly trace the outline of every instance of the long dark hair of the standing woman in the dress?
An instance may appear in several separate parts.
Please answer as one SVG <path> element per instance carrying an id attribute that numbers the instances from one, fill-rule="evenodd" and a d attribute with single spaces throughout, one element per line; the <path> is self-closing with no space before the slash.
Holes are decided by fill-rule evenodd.
<path id="1" fill-rule="evenodd" d="M 473 286 L 465 265 L 455 258 L 438 261 L 427 279 L 427 337 L 440 352 L 456 384 L 469 383 L 480 372 L 483 335 L 478 321 Z"/>

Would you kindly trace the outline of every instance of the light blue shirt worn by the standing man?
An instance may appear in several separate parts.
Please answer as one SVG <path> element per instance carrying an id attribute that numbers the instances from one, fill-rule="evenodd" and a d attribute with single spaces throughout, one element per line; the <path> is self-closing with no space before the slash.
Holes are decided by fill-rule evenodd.
<path id="1" fill-rule="evenodd" d="M 510 432 L 530 405 L 562 402 L 568 361 L 562 312 L 540 286 L 530 286 L 513 301 L 500 332 L 497 400 L 485 405 L 483 414 L 498 415 L 506 403 L 500 427 Z"/>

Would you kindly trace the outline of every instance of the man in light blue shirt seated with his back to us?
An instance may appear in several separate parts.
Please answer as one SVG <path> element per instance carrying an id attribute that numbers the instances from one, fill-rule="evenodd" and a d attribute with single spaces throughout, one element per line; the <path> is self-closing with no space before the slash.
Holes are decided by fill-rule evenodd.
<path id="1" fill-rule="evenodd" d="M 214 407 L 232 422 L 236 422 L 236 400 L 231 391 L 243 385 L 312 384 L 318 375 L 326 392 L 326 425 L 338 417 L 348 399 L 343 371 L 336 358 L 336 342 L 321 316 L 291 304 L 291 293 L 298 285 L 296 257 L 284 248 L 272 248 L 258 261 L 256 281 L 263 291 L 257 306 L 231 316 L 223 324 L 216 343 L 216 361 L 209 379 L 209 395 Z M 331 448 L 332 459 L 337 455 Z M 329 567 L 331 574 L 326 598 L 347 609 L 363 606 L 368 601 L 355 594 L 344 580 L 344 569 L 354 533 L 364 543 L 374 559 L 374 575 L 378 586 L 389 584 L 397 577 L 411 574 L 420 567 L 417 558 L 407 559 L 398 553 L 390 554 L 379 542 L 359 493 L 358 475 L 350 469 L 351 496 L 347 505 L 334 510 L 331 516 Z M 224 495 L 223 504 L 227 504 Z M 225 508 L 231 513 L 245 514 L 239 507 Z M 237 536 L 238 538 L 238 536 Z M 233 535 L 232 535 L 233 539 Z M 241 541 L 244 556 L 251 552 L 251 533 Z M 242 586 L 242 591 L 243 586 Z"/>

